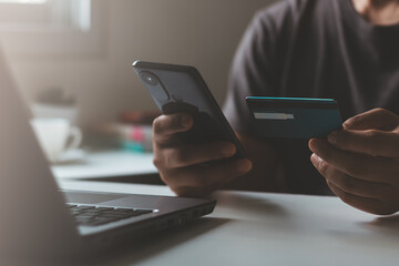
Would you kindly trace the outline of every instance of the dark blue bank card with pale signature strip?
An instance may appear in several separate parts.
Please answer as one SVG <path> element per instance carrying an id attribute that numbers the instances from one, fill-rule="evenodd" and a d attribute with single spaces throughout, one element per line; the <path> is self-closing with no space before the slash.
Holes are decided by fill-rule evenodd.
<path id="1" fill-rule="evenodd" d="M 248 96 L 246 102 L 262 137 L 326 137 L 342 129 L 332 99 Z"/>

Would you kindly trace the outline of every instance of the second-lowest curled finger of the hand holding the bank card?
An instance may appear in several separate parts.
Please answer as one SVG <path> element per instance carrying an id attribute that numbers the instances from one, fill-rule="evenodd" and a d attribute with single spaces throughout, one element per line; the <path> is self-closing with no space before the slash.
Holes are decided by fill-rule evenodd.
<path id="1" fill-rule="evenodd" d="M 337 170 L 316 154 L 310 157 L 317 171 L 326 177 L 327 182 L 332 183 L 340 190 L 362 197 L 380 200 L 389 192 L 390 186 L 378 182 L 368 182 L 355 178 Z"/>

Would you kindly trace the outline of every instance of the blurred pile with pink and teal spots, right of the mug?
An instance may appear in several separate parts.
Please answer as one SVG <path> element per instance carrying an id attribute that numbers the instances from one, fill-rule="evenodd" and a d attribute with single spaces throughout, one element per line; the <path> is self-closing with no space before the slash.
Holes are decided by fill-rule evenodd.
<path id="1" fill-rule="evenodd" d="M 122 112 L 117 122 L 103 122 L 91 126 L 93 145 L 108 145 L 133 153 L 152 152 L 152 122 L 160 115 L 153 111 Z"/>

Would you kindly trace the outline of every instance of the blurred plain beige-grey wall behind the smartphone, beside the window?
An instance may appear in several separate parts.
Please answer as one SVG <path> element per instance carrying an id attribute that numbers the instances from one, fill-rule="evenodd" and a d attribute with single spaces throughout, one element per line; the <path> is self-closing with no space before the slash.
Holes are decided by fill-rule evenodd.
<path id="1" fill-rule="evenodd" d="M 219 103 L 237 43 L 255 10 L 272 0 L 105 0 L 103 52 L 12 60 L 20 88 L 32 100 L 61 86 L 79 99 L 81 124 L 121 110 L 155 109 L 134 75 L 136 59 L 192 64 Z M 71 40 L 73 42 L 73 40 Z"/>

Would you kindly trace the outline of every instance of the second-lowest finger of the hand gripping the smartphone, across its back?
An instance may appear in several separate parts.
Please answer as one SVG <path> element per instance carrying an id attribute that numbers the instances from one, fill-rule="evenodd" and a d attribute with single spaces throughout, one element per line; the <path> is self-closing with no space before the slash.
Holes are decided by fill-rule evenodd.
<path id="1" fill-rule="evenodd" d="M 231 157 L 235 153 L 235 145 L 228 142 L 184 144 L 178 147 L 165 147 L 163 151 L 164 162 L 162 163 L 167 168 L 185 167 Z"/>

